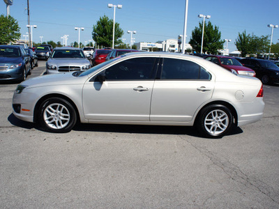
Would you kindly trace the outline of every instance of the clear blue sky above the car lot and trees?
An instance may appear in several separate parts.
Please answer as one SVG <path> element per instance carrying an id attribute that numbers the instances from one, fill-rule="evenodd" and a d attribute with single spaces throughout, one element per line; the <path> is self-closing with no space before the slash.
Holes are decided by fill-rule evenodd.
<path id="1" fill-rule="evenodd" d="M 6 3 L 0 0 L 0 14 L 6 15 Z M 186 0 L 29 0 L 30 24 L 33 29 L 33 41 L 61 41 L 68 35 L 68 45 L 78 42 L 75 27 L 84 27 L 80 31 L 80 42 L 88 43 L 92 39 L 93 25 L 106 15 L 113 19 L 114 9 L 107 4 L 121 4 L 116 8 L 115 21 L 124 31 L 123 40 L 130 43 L 127 31 L 133 34 L 135 42 L 157 42 L 169 38 L 178 38 L 183 34 Z M 235 40 L 239 33 L 246 30 L 255 36 L 271 36 L 268 24 L 279 25 L 279 0 L 188 0 L 188 21 L 186 42 L 202 18 L 197 15 L 211 15 L 211 23 L 218 26 L 222 39 L 228 43 L 229 52 L 236 50 Z M 27 0 L 13 0 L 10 15 L 20 25 L 20 33 L 27 29 Z M 206 20 L 208 21 L 208 20 Z M 22 36 L 24 40 L 24 36 Z M 273 30 L 273 43 L 279 42 L 279 28 Z M 86 41 L 86 42 L 85 42 Z M 224 44 L 225 47 L 225 44 Z"/>

